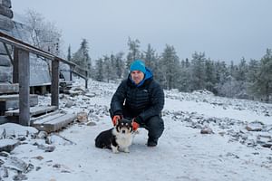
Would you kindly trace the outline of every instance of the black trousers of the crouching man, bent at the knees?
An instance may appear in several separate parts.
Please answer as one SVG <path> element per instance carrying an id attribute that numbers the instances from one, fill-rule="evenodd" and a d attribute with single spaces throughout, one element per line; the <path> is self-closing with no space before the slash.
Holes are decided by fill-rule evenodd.
<path id="1" fill-rule="evenodd" d="M 114 116 L 112 111 L 110 110 L 111 118 Z M 123 110 L 124 119 L 133 119 L 133 115 L 131 115 L 128 111 Z M 140 128 L 147 129 L 149 131 L 148 136 L 151 139 L 158 139 L 162 135 L 164 130 L 164 122 L 161 119 L 160 115 L 153 116 L 150 119 L 143 121 L 140 124 Z"/>

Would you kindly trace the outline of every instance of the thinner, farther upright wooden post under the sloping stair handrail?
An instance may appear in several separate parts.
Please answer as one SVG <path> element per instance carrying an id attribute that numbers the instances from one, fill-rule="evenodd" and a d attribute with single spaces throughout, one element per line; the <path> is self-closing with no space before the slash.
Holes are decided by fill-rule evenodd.
<path id="1" fill-rule="evenodd" d="M 59 108 L 59 62 L 52 62 L 52 78 L 51 78 L 51 105 Z"/>

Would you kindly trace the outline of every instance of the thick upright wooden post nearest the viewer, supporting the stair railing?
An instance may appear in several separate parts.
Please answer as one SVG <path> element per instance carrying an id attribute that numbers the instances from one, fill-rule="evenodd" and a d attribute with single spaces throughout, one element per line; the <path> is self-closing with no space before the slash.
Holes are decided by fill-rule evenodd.
<path id="1" fill-rule="evenodd" d="M 18 79 L 19 79 L 19 123 L 29 126 L 30 123 L 30 104 L 29 104 L 29 52 L 17 50 L 18 55 Z"/>

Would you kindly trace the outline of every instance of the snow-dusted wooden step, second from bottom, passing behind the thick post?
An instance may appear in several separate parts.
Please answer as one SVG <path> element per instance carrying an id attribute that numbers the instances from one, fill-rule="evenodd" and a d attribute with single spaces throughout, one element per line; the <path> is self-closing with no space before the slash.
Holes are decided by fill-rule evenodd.
<path id="1" fill-rule="evenodd" d="M 46 107 L 31 107 L 30 108 L 30 117 L 34 117 L 41 114 L 46 114 L 48 112 L 52 112 L 53 110 L 57 110 L 56 106 L 46 106 Z M 5 116 L 19 116 L 19 110 L 9 110 L 5 111 Z"/>

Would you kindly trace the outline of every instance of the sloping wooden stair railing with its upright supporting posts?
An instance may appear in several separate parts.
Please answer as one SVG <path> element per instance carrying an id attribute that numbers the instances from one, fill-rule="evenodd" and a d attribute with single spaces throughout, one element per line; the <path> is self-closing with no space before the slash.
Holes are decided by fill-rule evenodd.
<path id="1" fill-rule="evenodd" d="M 60 57 L 57 57 L 49 52 L 44 52 L 31 44 L 24 43 L 12 36 L 0 32 L 0 42 L 10 44 L 14 47 L 14 59 L 13 59 L 13 82 L 19 83 L 19 123 L 25 126 L 29 126 L 30 121 L 30 104 L 29 104 L 29 92 L 30 92 L 30 61 L 29 53 L 42 56 L 52 61 L 52 82 L 51 82 L 51 105 L 59 107 L 59 62 L 64 62 L 70 66 L 71 73 L 74 73 L 85 80 L 85 88 L 88 84 L 88 73 L 78 73 L 73 71 L 80 69 L 73 62 L 68 62 Z M 11 55 L 9 55 L 11 56 Z M 12 57 L 10 57 L 12 58 Z M 83 71 L 84 72 L 84 71 Z"/>

